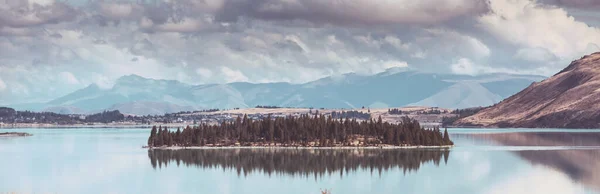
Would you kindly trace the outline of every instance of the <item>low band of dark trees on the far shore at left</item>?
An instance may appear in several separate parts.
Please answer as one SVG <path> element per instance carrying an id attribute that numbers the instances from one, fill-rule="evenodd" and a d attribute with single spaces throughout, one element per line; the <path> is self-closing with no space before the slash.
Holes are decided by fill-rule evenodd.
<path id="1" fill-rule="evenodd" d="M 124 119 L 125 116 L 118 110 L 104 111 L 80 117 L 79 115 L 66 115 L 53 112 L 16 111 L 12 108 L 0 107 L 0 122 L 3 123 L 52 123 L 68 125 L 92 122 L 110 123 Z"/>

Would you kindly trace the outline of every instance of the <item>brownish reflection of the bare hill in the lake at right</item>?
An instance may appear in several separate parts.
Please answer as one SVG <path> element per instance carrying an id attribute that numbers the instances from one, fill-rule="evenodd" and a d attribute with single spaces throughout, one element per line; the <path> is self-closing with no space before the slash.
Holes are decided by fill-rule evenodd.
<path id="1" fill-rule="evenodd" d="M 522 149 L 519 157 L 567 174 L 573 181 L 600 191 L 600 133 L 483 133 L 460 135 L 503 146 L 542 146 L 556 149 Z"/>

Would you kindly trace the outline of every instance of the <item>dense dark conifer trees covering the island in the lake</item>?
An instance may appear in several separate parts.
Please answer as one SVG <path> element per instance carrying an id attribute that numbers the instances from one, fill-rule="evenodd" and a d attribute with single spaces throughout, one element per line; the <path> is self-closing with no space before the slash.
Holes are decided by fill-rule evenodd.
<path id="1" fill-rule="evenodd" d="M 323 115 L 277 117 L 260 120 L 237 118 L 220 125 L 202 124 L 170 131 L 152 127 L 149 147 L 160 146 L 382 146 L 452 145 L 447 131 L 424 129 L 416 120 L 404 117 L 399 124 L 373 119 L 334 119 Z"/>

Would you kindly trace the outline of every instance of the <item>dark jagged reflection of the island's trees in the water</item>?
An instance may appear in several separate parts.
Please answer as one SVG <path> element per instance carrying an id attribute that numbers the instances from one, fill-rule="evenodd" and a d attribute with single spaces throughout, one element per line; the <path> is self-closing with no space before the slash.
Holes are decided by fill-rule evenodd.
<path id="1" fill-rule="evenodd" d="M 339 173 L 340 176 L 358 169 L 382 171 L 403 169 L 404 173 L 417 171 L 422 164 L 448 162 L 450 151 L 393 150 L 393 149 L 183 149 L 148 150 L 153 168 L 177 166 L 235 169 L 238 176 L 252 172 L 268 175 L 323 176 Z"/>

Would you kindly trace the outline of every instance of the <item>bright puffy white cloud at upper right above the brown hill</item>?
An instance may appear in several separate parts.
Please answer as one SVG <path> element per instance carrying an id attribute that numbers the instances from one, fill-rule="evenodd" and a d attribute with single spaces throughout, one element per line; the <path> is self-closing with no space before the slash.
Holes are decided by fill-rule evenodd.
<path id="1" fill-rule="evenodd" d="M 576 21 L 559 7 L 531 0 L 490 1 L 491 12 L 478 21 L 482 28 L 511 44 L 543 48 L 563 58 L 578 58 L 589 44 L 600 45 L 600 30 Z"/>

